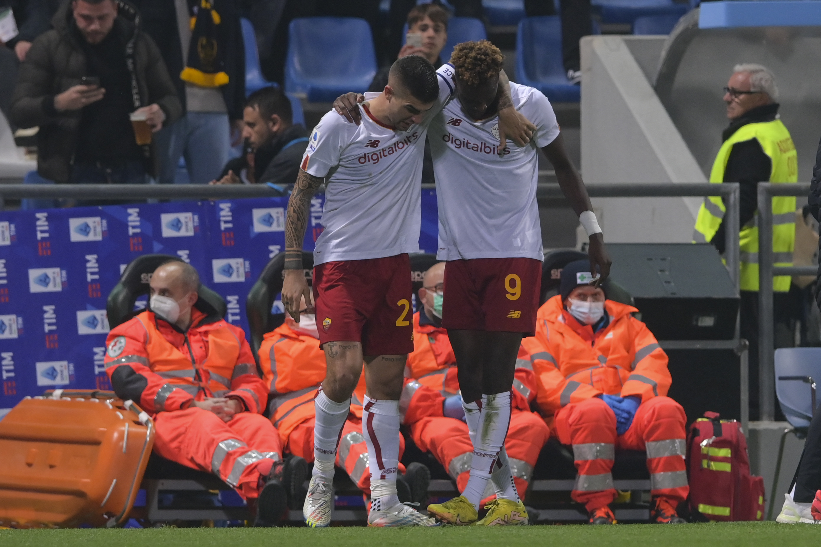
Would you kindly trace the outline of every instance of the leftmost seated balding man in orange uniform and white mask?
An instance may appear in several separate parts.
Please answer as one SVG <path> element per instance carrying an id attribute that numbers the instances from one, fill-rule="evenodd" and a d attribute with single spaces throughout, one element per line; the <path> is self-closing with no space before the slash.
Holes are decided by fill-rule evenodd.
<path id="1" fill-rule="evenodd" d="M 149 309 L 106 340 L 114 393 L 154 415 L 157 454 L 213 472 L 255 503 L 256 525 L 273 526 L 307 467 L 299 459 L 282 463 L 245 333 L 200 303 L 200 276 L 190 264 L 166 262 L 149 285 Z"/>

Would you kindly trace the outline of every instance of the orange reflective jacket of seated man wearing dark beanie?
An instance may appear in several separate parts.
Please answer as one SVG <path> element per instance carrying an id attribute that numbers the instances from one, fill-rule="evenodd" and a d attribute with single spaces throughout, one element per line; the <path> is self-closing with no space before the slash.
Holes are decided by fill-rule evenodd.
<path id="1" fill-rule="evenodd" d="M 594 333 L 566 312 L 562 297 L 545 302 L 536 316 L 536 335 L 525 339 L 538 379 L 536 402 L 545 416 L 567 403 L 598 394 L 642 402 L 667 395 L 672 378 L 667 354 L 646 325 L 631 316 L 636 308 L 606 300 L 608 326 Z"/>

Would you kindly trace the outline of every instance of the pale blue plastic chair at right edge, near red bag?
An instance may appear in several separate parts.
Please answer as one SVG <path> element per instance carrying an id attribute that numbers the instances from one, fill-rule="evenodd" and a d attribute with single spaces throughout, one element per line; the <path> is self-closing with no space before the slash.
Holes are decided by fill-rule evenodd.
<path id="1" fill-rule="evenodd" d="M 803 439 L 810 428 L 810 421 L 813 419 L 816 408 L 815 382 L 819 380 L 821 380 L 821 348 L 775 350 L 775 394 L 782 413 L 792 427 L 784 430 L 781 435 L 771 493 L 775 492 L 778 485 L 787 434 L 793 433 L 799 439 Z M 773 516 L 775 498 L 775 495 L 770 495 L 768 520 Z"/>

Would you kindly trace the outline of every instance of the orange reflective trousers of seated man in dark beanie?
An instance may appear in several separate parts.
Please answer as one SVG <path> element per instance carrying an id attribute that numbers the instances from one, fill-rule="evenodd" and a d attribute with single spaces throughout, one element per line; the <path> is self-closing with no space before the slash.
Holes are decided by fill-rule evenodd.
<path id="1" fill-rule="evenodd" d="M 687 498 L 685 465 L 686 416 L 669 397 L 641 403 L 624 435 L 616 434 L 616 415 L 602 399 L 570 403 L 556 414 L 556 432 L 562 444 L 573 445 L 576 485 L 571 498 L 588 511 L 616 499 L 611 469 L 615 449 L 646 450 L 651 495 L 673 501 Z"/>

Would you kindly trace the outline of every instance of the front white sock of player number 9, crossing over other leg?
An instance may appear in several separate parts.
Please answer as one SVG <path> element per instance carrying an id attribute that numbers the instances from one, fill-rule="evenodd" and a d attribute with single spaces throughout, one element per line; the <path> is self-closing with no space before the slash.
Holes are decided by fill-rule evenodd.
<path id="1" fill-rule="evenodd" d="M 488 485 L 493 468 L 497 466 L 499 452 L 505 445 L 507 428 L 511 422 L 511 394 L 509 391 L 482 395 L 482 410 L 476 428 L 473 458 L 470 461 L 470 478 L 462 495 L 479 510 L 484 489 Z M 509 467 L 508 467 L 509 473 Z"/>

